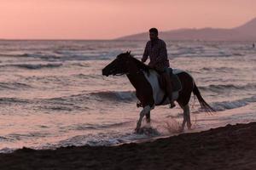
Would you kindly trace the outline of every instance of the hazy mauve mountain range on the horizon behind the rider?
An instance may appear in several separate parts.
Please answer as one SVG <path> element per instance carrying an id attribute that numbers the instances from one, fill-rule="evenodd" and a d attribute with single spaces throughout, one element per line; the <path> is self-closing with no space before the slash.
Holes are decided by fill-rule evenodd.
<path id="1" fill-rule="evenodd" d="M 201 28 L 161 31 L 164 40 L 256 41 L 256 18 L 231 29 Z M 148 40 L 148 32 L 117 38 L 119 40 Z"/>

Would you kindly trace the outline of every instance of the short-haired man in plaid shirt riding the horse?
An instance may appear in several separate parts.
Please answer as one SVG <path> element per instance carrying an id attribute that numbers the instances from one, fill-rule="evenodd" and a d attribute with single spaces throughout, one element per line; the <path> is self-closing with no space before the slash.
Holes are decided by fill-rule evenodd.
<path id="1" fill-rule="evenodd" d="M 150 59 L 149 66 L 160 72 L 161 77 L 164 77 L 166 82 L 166 92 L 170 99 L 170 107 L 175 107 L 174 101 L 172 101 L 172 81 L 169 76 L 168 68 L 170 67 L 169 59 L 167 57 L 166 42 L 158 37 L 158 30 L 151 28 L 149 30 L 150 41 L 147 42 L 146 48 L 143 54 L 143 63 Z"/>

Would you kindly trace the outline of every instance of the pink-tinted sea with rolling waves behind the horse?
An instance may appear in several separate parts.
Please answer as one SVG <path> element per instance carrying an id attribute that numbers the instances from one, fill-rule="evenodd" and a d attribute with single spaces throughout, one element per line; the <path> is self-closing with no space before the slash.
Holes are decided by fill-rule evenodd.
<path id="1" fill-rule="evenodd" d="M 142 108 L 126 76 L 102 68 L 131 51 L 141 59 L 147 41 L 0 41 L 0 152 L 70 145 L 116 145 L 177 135 L 183 111 L 157 106 L 143 133 Z M 172 68 L 188 71 L 216 112 L 189 101 L 194 133 L 256 121 L 253 42 L 166 41 Z"/>

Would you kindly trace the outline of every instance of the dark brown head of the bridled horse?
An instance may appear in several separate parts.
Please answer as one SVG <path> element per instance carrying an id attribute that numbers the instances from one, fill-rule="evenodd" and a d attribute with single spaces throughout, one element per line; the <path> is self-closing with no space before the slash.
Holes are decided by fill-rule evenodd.
<path id="1" fill-rule="evenodd" d="M 128 65 L 131 61 L 131 53 L 126 52 L 119 54 L 110 64 L 102 69 L 102 75 L 108 77 L 109 75 L 123 75 L 128 73 Z"/>

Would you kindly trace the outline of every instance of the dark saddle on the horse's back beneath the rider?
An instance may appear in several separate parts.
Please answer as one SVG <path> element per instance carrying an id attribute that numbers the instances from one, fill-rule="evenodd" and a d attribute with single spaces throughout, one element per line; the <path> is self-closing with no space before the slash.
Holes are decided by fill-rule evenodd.
<path id="1" fill-rule="evenodd" d="M 170 78 L 172 80 L 172 93 L 179 92 L 182 89 L 182 84 L 181 84 L 179 78 L 177 77 L 177 75 L 172 74 L 172 68 L 169 68 L 168 70 L 169 70 Z M 165 89 L 166 89 L 165 79 L 163 77 L 161 77 L 161 75 L 160 75 L 160 77 L 158 78 L 158 81 L 160 83 L 160 88 L 162 88 L 165 91 Z"/>

